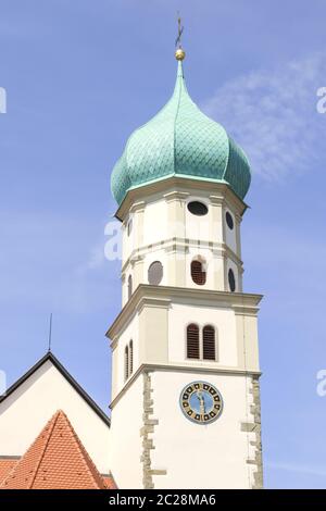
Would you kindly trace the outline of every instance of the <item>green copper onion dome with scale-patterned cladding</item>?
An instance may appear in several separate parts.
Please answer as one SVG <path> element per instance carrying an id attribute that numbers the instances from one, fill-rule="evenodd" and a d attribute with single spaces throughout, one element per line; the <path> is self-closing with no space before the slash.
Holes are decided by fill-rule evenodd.
<path id="1" fill-rule="evenodd" d="M 171 176 L 226 183 L 241 199 L 251 179 L 243 151 L 189 97 L 181 62 L 170 101 L 129 137 L 112 172 L 112 194 L 121 204 L 128 190 Z"/>

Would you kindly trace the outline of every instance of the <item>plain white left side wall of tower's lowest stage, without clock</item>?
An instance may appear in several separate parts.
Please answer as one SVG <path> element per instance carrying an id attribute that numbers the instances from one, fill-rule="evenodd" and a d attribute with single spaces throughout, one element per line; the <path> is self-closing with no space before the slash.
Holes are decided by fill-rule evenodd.
<path id="1" fill-rule="evenodd" d="M 142 426 L 142 375 L 112 410 L 110 469 L 121 489 L 142 488 L 140 428 Z"/>

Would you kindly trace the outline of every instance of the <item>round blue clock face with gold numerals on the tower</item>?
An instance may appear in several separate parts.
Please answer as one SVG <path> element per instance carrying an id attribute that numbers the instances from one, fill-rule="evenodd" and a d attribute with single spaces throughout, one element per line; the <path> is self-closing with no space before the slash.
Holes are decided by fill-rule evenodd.
<path id="1" fill-rule="evenodd" d="M 197 424 L 209 424 L 221 415 L 223 400 L 214 385 L 206 382 L 192 382 L 180 394 L 180 407 L 190 421 Z"/>

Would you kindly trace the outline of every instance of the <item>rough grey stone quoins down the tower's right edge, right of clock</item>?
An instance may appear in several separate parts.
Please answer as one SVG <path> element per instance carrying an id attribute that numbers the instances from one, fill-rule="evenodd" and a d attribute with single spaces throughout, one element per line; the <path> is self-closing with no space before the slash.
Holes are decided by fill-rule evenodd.
<path id="1" fill-rule="evenodd" d="M 261 397 L 259 375 L 252 375 L 252 387 L 249 390 L 252 394 L 252 404 L 250 412 L 253 415 L 253 422 L 242 422 L 241 432 L 253 433 L 254 440 L 250 445 L 254 447 L 254 458 L 248 458 L 247 463 L 254 465 L 252 489 L 263 488 L 263 454 L 262 454 L 262 423 L 261 423 Z"/>

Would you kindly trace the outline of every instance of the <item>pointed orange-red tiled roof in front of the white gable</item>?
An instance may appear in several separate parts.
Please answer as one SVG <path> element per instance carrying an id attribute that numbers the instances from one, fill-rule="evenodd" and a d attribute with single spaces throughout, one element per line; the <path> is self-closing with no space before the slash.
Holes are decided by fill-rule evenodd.
<path id="1" fill-rule="evenodd" d="M 0 488 L 105 489 L 111 484 L 112 479 L 105 484 L 67 416 L 59 410 L 7 472 Z"/>

